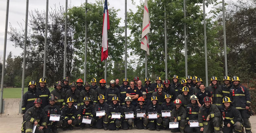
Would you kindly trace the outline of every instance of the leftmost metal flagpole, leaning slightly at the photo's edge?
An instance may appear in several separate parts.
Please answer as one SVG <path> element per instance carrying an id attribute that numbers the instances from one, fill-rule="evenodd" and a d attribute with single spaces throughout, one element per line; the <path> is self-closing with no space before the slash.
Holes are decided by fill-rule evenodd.
<path id="1" fill-rule="evenodd" d="M 4 71 L 5 71 L 5 54 L 6 54 L 6 41 L 8 29 L 8 16 L 9 16 L 9 0 L 6 3 L 6 17 L 5 17 L 5 40 L 4 40 L 4 58 L 2 63 L 2 80 L 1 80 L 1 95 L 0 95 L 0 113 L 2 113 L 2 96 L 4 92 Z"/>

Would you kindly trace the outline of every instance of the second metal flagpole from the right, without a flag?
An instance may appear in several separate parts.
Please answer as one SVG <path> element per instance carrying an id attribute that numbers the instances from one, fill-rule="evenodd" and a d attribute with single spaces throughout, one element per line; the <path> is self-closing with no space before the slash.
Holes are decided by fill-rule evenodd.
<path id="1" fill-rule="evenodd" d="M 205 0 L 203 0 L 203 19 L 204 19 L 204 58 L 206 67 L 206 86 L 208 86 L 208 69 L 207 69 L 207 45 L 206 45 L 206 20 L 205 20 Z"/>

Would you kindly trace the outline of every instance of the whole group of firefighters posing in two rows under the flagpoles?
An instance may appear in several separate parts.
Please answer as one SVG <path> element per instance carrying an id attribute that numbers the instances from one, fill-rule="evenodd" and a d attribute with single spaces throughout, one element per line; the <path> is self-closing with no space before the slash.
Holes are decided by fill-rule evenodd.
<path id="1" fill-rule="evenodd" d="M 162 81 L 156 77 L 151 83 L 145 78 L 145 85 L 139 77 L 133 81 L 127 77 L 122 86 L 119 80 L 111 80 L 110 87 L 101 79 L 97 86 L 96 79 L 83 85 L 82 79 L 69 83 L 69 78 L 58 81 L 52 92 L 46 87 L 46 79 L 39 80 L 39 85 L 31 81 L 28 91 L 23 95 L 22 112 L 23 133 L 57 133 L 60 127 L 64 131 L 73 127 L 85 128 L 83 117 L 91 119 L 89 128 L 104 130 L 137 129 L 160 131 L 169 128 L 169 122 L 178 122 L 178 128 L 171 132 L 181 133 L 251 133 L 249 121 L 251 97 L 249 89 L 242 86 L 240 79 L 224 76 L 223 85 L 217 77 L 211 77 L 211 84 L 205 87 L 201 78 L 187 76 L 179 82 L 177 75 Z M 171 116 L 163 116 L 163 110 L 170 110 Z M 96 116 L 97 111 L 105 115 Z M 145 111 L 143 117 L 137 117 L 138 111 Z M 125 112 L 133 112 L 133 118 L 126 118 Z M 157 112 L 157 118 L 149 118 L 149 112 Z M 112 113 L 120 113 L 120 118 L 112 118 Z M 50 115 L 60 115 L 59 121 L 50 121 Z M 198 121 L 198 127 L 191 127 L 191 120 Z M 135 125 L 135 126 L 134 126 Z"/>

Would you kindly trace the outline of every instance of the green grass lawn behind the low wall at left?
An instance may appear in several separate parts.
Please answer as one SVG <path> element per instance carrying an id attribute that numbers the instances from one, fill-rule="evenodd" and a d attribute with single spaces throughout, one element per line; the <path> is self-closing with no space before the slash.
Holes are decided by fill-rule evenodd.
<path id="1" fill-rule="evenodd" d="M 24 88 L 24 93 L 28 88 Z M 51 92 L 53 89 L 49 88 Z M 21 88 L 4 88 L 3 98 L 21 98 Z"/>

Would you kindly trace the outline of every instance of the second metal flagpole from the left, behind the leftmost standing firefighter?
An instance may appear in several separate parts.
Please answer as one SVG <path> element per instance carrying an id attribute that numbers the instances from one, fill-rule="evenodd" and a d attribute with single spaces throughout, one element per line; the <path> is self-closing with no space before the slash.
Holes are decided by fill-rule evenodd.
<path id="1" fill-rule="evenodd" d="M 22 89 L 21 102 L 23 101 L 24 86 L 25 86 L 25 67 L 26 67 L 26 50 L 27 50 L 27 23 L 28 23 L 28 0 L 26 5 L 26 19 L 25 19 L 25 36 L 24 36 L 24 52 L 23 52 L 23 69 L 22 69 Z M 21 110 L 21 106 L 20 106 Z"/>

